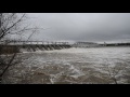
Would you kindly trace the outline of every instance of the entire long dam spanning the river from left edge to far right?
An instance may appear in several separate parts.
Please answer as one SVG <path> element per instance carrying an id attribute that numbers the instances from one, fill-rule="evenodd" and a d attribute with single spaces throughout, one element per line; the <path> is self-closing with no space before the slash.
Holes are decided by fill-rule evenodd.
<path id="1" fill-rule="evenodd" d="M 94 43 L 94 42 L 54 42 L 54 41 L 0 41 L 0 52 L 3 54 L 37 52 L 37 51 L 53 51 L 70 47 L 114 47 L 114 46 L 130 46 L 130 43 Z"/>

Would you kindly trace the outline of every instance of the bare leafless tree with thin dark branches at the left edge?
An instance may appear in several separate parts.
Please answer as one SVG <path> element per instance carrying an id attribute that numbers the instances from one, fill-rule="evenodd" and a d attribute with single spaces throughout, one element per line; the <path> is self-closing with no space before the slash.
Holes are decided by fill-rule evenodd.
<path id="1" fill-rule="evenodd" d="M 36 32 L 38 28 L 29 28 L 24 22 L 27 20 L 27 14 L 25 13 L 0 13 L 0 82 L 2 77 L 10 66 L 20 61 L 14 61 L 17 52 L 13 52 L 11 55 L 8 52 L 3 52 L 4 46 L 11 42 L 6 37 L 11 34 L 23 34 L 24 32 L 31 31 L 29 38 Z M 27 41 L 29 40 L 27 39 Z"/>

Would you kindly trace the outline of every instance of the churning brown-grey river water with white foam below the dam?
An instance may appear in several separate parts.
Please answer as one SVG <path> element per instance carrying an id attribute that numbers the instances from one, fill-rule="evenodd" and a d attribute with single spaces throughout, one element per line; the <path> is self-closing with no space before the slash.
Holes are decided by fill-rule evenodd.
<path id="1" fill-rule="evenodd" d="M 66 48 L 23 53 L 4 75 L 11 84 L 127 84 L 130 47 Z"/>

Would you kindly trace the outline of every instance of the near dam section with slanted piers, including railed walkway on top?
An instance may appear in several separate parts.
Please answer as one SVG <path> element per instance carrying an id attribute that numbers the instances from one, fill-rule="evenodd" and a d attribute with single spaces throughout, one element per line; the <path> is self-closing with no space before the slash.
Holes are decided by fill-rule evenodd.
<path id="1" fill-rule="evenodd" d="M 53 51 L 69 47 L 72 47 L 72 44 L 68 44 L 68 42 L 15 41 L 8 43 L 8 45 L 2 44 L 2 42 L 0 43 L 0 52 L 10 54 L 36 51 Z"/>

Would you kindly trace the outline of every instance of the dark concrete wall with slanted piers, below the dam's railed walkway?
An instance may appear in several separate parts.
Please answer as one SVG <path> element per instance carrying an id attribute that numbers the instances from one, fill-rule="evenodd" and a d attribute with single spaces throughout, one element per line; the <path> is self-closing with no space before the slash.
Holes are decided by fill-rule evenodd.
<path id="1" fill-rule="evenodd" d="M 53 51 L 69 48 L 69 44 L 25 44 L 25 45 L 0 45 L 0 53 L 12 54 L 22 52 Z"/>

